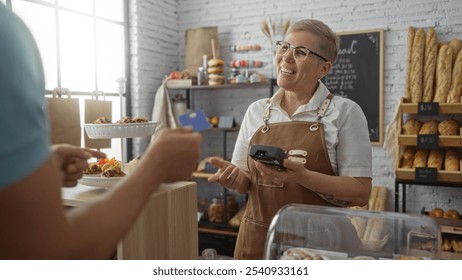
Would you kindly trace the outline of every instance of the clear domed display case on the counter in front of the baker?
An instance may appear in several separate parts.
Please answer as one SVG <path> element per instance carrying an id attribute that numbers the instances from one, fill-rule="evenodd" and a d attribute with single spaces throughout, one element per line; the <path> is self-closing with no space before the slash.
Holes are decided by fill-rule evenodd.
<path id="1" fill-rule="evenodd" d="M 439 225 L 426 216 L 290 204 L 270 225 L 265 259 L 440 259 Z"/>

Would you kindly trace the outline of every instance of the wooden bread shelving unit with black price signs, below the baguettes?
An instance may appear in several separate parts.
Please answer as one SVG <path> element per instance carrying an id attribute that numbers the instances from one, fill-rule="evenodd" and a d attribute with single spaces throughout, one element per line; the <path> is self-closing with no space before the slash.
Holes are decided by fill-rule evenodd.
<path id="1" fill-rule="evenodd" d="M 462 114 L 462 103 L 442 103 L 442 104 L 431 104 L 432 106 L 437 106 L 436 114 L 427 114 L 425 111 L 422 111 L 422 107 L 425 106 L 421 103 L 410 103 L 408 100 L 401 100 L 399 105 L 399 119 L 398 119 L 398 144 L 399 149 L 396 154 L 396 169 L 395 169 L 395 212 L 406 212 L 406 186 L 407 185 L 418 185 L 418 186 L 443 186 L 443 187 L 453 187 L 461 188 L 462 187 L 462 172 L 460 166 L 462 160 L 459 162 L 458 171 L 446 171 L 446 170 L 432 170 L 435 168 L 425 168 L 428 169 L 429 173 L 436 172 L 436 176 L 419 176 L 417 169 L 408 169 L 401 168 L 401 147 L 404 146 L 416 146 L 419 148 L 418 135 L 402 135 L 402 126 L 404 115 L 416 115 L 420 116 L 430 116 L 430 117 L 440 117 L 442 115 L 450 114 Z M 459 133 L 457 136 L 441 136 L 437 137 L 438 148 L 443 147 L 462 147 L 462 133 Z M 427 170 L 423 171 L 427 171 Z M 422 170 L 420 170 L 422 171 Z M 435 173 L 433 173 L 435 174 Z M 400 190 L 401 188 L 401 190 Z M 400 197 L 401 209 L 399 205 Z"/>

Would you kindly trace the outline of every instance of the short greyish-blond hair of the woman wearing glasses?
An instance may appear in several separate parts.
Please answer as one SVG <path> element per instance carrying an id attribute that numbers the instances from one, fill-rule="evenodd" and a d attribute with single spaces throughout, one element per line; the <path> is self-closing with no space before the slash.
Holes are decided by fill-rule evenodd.
<path id="1" fill-rule="evenodd" d="M 315 34 L 319 41 L 317 43 L 316 52 L 320 52 L 322 56 L 332 63 L 335 62 L 339 50 L 338 36 L 320 20 L 316 19 L 302 19 L 292 24 L 287 30 L 287 34 L 294 31 L 306 31 Z"/>

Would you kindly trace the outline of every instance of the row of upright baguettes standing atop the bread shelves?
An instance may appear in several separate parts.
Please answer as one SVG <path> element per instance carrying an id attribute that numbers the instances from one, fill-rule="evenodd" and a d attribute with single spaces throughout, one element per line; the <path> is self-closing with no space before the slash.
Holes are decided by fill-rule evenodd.
<path id="1" fill-rule="evenodd" d="M 437 41 L 434 28 L 408 28 L 405 99 L 412 102 L 460 103 L 462 42 Z"/>

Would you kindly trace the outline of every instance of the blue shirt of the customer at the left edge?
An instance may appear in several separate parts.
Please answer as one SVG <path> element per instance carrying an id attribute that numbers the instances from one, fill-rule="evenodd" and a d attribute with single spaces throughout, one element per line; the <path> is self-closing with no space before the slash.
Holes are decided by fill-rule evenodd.
<path id="1" fill-rule="evenodd" d="M 44 80 L 32 34 L 0 3 L 0 191 L 50 156 Z"/>

